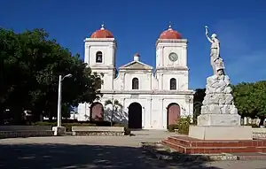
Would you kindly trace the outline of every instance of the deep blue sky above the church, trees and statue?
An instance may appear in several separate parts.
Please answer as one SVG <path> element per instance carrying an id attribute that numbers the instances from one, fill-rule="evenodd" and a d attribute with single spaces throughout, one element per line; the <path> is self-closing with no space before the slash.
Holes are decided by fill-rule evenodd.
<path id="1" fill-rule="evenodd" d="M 139 52 L 155 65 L 155 42 L 173 28 L 188 39 L 190 88 L 204 88 L 212 69 L 205 25 L 221 42 L 231 82 L 266 79 L 266 1 L 263 0 L 0 0 L 0 27 L 44 28 L 51 38 L 83 57 L 83 39 L 102 22 L 118 42 L 117 66 Z"/>

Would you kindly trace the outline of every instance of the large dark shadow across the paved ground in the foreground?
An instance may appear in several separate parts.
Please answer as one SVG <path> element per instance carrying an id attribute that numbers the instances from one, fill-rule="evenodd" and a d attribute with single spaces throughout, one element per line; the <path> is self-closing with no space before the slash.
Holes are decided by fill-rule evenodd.
<path id="1" fill-rule="evenodd" d="M 1 169 L 99 169 L 99 168 L 215 168 L 203 162 L 174 163 L 158 160 L 141 148 L 69 145 L 0 145 Z"/>

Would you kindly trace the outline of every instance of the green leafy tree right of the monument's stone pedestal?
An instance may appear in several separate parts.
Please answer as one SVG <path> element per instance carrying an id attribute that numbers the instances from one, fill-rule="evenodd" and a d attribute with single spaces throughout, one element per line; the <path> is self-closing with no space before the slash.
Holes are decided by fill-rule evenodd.
<path id="1" fill-rule="evenodd" d="M 232 86 L 234 103 L 242 117 L 260 118 L 260 126 L 266 118 L 266 81 L 239 83 Z"/>

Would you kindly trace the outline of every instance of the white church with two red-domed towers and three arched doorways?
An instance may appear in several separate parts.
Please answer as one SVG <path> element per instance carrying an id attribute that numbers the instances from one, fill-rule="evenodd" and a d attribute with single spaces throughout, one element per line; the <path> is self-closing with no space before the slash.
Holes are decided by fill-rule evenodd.
<path id="1" fill-rule="evenodd" d="M 103 73 L 103 96 L 93 104 L 79 104 L 79 121 L 108 120 L 129 128 L 167 130 L 180 117 L 192 116 L 193 90 L 189 89 L 187 40 L 171 26 L 156 42 L 156 67 L 132 61 L 115 67 L 117 43 L 104 25 L 84 40 L 84 62 L 92 72 Z M 121 104 L 113 110 L 106 100 Z M 114 106 L 115 107 L 115 106 Z"/>

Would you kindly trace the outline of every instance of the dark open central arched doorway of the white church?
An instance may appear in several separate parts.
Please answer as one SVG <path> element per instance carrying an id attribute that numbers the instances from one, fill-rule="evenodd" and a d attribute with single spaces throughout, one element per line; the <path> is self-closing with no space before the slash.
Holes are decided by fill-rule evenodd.
<path id="1" fill-rule="evenodd" d="M 129 128 L 142 128 L 142 106 L 136 102 L 129 105 Z"/>

